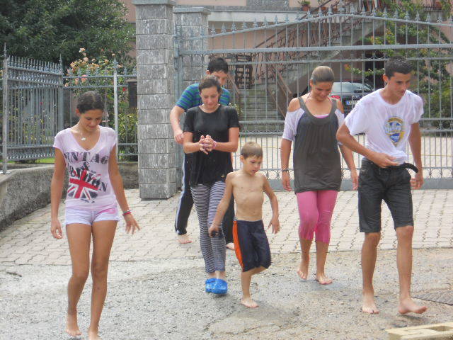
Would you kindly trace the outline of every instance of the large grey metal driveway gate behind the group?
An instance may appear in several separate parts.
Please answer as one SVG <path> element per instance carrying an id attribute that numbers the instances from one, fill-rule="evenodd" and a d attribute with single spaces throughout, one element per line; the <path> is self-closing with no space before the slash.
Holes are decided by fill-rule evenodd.
<path id="1" fill-rule="evenodd" d="M 326 1 L 323 6 L 328 3 L 333 5 L 320 6 L 294 21 L 275 18 L 270 24 L 257 18 L 253 23 L 233 23 L 229 29 L 212 27 L 209 33 L 178 37 L 177 79 L 182 79 L 185 68 L 197 67 L 202 77 L 212 56 L 229 61 L 226 88 L 241 121 L 239 149 L 247 140 L 258 142 L 264 151 L 262 170 L 274 188 L 281 188 L 280 137 L 286 108 L 293 97 L 309 91 L 312 69 L 321 64 L 333 69 L 332 96 L 343 102 L 348 114 L 362 96 L 384 86 L 384 62 L 404 56 L 415 69 L 411 90 L 425 103 L 420 122 L 425 188 L 453 188 L 452 18 L 444 21 L 440 11 L 389 13 L 372 8 L 374 1 L 367 9 L 360 7 L 362 1 L 347 5 Z M 176 86 L 177 95 L 182 87 Z M 357 138 L 364 142 L 362 135 Z M 355 155 L 356 166 L 360 158 Z M 234 159 L 239 168 L 239 152 Z M 343 178 L 343 188 L 350 187 L 345 164 Z"/>

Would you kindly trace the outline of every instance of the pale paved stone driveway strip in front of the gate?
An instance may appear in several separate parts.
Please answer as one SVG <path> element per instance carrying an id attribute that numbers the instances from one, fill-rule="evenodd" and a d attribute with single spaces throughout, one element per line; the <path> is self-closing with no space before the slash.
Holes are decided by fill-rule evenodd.
<path id="1" fill-rule="evenodd" d="M 125 234 L 121 222 L 117 230 L 112 261 L 201 257 L 197 215 L 190 215 L 188 232 L 192 244 L 178 244 L 173 233 L 173 220 L 178 196 L 168 200 L 141 200 L 137 189 L 127 190 L 127 199 L 142 230 L 133 236 Z M 273 254 L 300 251 L 297 227 L 299 214 L 294 193 L 277 192 L 280 205 L 281 232 L 268 232 Z M 414 248 L 453 246 L 453 191 L 414 191 Z M 270 204 L 265 199 L 264 221 L 270 220 Z M 389 210 L 383 205 L 380 249 L 394 249 L 396 237 Z M 64 207 L 60 210 L 64 220 Z M 0 232 L 0 263 L 70 264 L 67 239 L 55 240 L 50 234 L 50 205 L 17 220 Z M 341 191 L 332 220 L 331 251 L 359 250 L 363 235 L 358 231 L 357 192 Z M 234 256 L 233 251 L 228 251 Z"/>

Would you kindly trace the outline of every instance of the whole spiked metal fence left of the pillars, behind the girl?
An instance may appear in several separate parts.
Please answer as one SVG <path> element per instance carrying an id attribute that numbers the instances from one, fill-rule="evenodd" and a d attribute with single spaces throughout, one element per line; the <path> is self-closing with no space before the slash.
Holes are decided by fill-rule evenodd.
<path id="1" fill-rule="evenodd" d="M 105 97 L 105 125 L 118 134 L 120 161 L 137 160 L 137 102 L 135 70 L 113 62 L 113 74 L 89 72 L 64 76 L 62 62 L 41 62 L 6 55 L 1 70 L 1 159 L 8 161 L 54 157 L 53 138 L 76 123 L 76 98 L 98 90 Z M 135 86 L 134 86 L 135 85 Z M 132 95 L 132 101 L 130 101 Z"/>

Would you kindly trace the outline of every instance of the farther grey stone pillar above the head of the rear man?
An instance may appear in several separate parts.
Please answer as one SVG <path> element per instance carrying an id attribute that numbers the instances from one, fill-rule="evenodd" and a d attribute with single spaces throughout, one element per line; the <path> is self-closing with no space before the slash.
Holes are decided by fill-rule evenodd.
<path id="1" fill-rule="evenodd" d="M 211 11 L 203 7 L 174 8 L 176 30 L 180 38 L 192 38 L 206 36 L 210 32 L 207 16 Z M 183 41 L 180 50 L 204 51 L 207 50 L 207 38 Z M 190 84 L 200 81 L 206 73 L 206 55 L 185 55 L 180 58 L 180 70 L 178 74 L 179 94 Z M 178 93 L 177 93 L 178 94 Z"/>

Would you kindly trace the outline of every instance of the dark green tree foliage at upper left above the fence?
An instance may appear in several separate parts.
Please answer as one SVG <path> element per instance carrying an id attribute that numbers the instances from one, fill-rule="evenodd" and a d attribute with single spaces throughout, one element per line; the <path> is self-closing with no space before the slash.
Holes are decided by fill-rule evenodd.
<path id="1" fill-rule="evenodd" d="M 2 0 L 0 42 L 8 55 L 64 64 L 79 57 L 81 46 L 93 55 L 131 49 L 134 27 L 125 21 L 120 0 Z"/>

